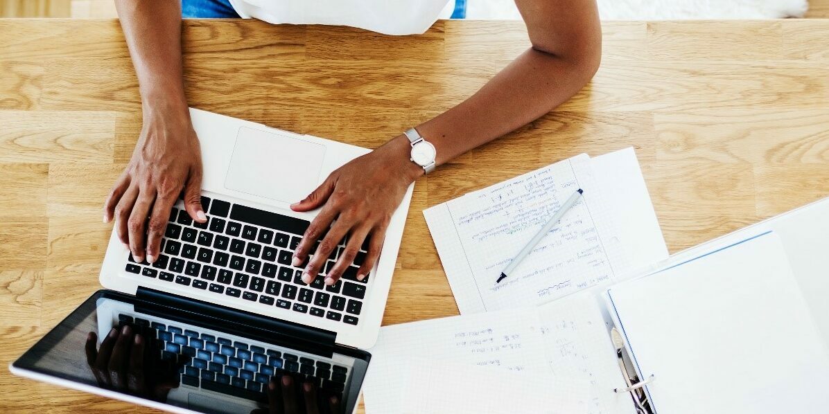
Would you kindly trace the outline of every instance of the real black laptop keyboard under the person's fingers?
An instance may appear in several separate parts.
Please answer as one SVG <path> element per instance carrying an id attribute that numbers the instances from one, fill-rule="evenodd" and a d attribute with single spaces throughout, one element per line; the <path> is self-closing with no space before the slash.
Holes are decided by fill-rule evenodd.
<path id="1" fill-rule="evenodd" d="M 370 277 L 357 281 L 367 241 L 354 262 L 332 286 L 323 277 L 342 256 L 346 240 L 329 256 L 310 285 L 303 269 L 291 266 L 308 220 L 224 200 L 201 197 L 207 222 L 196 223 L 187 211 L 173 208 L 162 238 L 161 254 L 150 265 L 129 255 L 125 270 L 215 295 L 357 325 Z"/>

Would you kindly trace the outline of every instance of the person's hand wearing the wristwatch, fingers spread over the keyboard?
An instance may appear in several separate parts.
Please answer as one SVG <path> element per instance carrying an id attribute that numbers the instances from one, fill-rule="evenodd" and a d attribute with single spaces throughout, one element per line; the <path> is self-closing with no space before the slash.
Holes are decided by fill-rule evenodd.
<path id="1" fill-rule="evenodd" d="M 385 238 L 391 215 L 403 200 L 406 189 L 423 174 L 423 168 L 410 161 L 410 143 L 396 137 L 382 147 L 360 156 L 333 171 L 305 200 L 291 205 L 294 211 L 322 206 L 293 253 L 293 266 L 308 261 L 303 282 L 311 283 L 332 251 L 348 236 L 344 253 L 327 273 L 325 283 L 333 285 L 354 261 L 361 245 L 369 239 L 366 258 L 357 270 L 362 280 L 371 272 Z M 322 242 L 316 248 L 318 239 Z M 308 255 L 313 255 L 308 260 Z"/>

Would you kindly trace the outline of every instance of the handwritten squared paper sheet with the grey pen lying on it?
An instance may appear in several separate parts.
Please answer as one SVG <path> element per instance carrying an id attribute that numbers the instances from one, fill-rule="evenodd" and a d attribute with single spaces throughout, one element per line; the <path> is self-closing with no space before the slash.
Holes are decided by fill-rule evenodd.
<path id="1" fill-rule="evenodd" d="M 583 197 L 560 224 L 496 283 L 579 188 Z M 609 281 L 623 251 L 602 192 L 581 154 L 424 210 L 461 313 L 534 306 Z"/>

